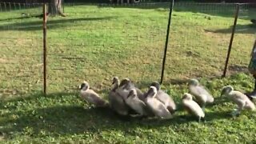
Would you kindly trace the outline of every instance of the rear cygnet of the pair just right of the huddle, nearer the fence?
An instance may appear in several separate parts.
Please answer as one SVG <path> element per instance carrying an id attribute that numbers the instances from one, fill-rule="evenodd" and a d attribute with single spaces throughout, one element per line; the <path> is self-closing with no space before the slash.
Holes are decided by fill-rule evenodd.
<path id="1" fill-rule="evenodd" d="M 206 103 L 214 102 L 214 97 L 203 86 L 199 85 L 197 79 L 190 79 L 189 90 L 190 94 L 194 95 L 199 105 L 202 106 L 202 110 L 205 110 Z"/>

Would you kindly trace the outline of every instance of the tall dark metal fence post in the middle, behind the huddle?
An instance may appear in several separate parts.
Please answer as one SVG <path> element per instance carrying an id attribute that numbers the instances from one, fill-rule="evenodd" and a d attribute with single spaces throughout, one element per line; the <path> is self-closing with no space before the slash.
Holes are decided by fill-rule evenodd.
<path id="1" fill-rule="evenodd" d="M 170 21 L 171 21 L 172 11 L 174 8 L 174 0 L 171 0 L 171 1 L 172 2 L 170 2 L 170 13 L 169 13 L 168 25 L 167 25 L 167 30 L 166 30 L 166 46 L 165 46 L 165 51 L 164 51 L 163 58 L 162 58 L 162 73 L 161 73 L 161 80 L 160 80 L 161 84 L 163 82 L 163 75 L 164 75 L 165 66 L 166 66 L 166 53 L 167 53 L 168 42 L 169 42 Z"/>

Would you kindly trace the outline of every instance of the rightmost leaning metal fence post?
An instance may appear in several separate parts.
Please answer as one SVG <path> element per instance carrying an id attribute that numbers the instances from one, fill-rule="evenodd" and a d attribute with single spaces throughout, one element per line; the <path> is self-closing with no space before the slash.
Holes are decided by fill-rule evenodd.
<path id="1" fill-rule="evenodd" d="M 235 10 L 235 14 L 234 14 L 234 24 L 233 24 L 232 34 L 231 34 L 231 38 L 230 38 L 229 50 L 227 51 L 227 55 L 226 55 L 226 63 L 225 63 L 225 68 L 223 70 L 222 78 L 226 77 L 226 69 L 227 69 L 227 66 L 229 63 L 229 59 L 230 59 L 230 52 L 232 49 L 232 44 L 233 44 L 233 39 L 234 39 L 235 27 L 237 26 L 239 10 L 240 10 L 240 4 L 236 4 L 236 10 Z"/>

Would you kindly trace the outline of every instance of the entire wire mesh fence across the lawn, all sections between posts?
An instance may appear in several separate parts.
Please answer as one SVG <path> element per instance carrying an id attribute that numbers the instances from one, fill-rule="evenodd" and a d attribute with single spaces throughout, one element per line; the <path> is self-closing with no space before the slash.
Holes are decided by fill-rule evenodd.
<path id="1" fill-rule="evenodd" d="M 170 3 L 65 3 L 47 19 L 49 92 L 76 90 L 86 79 L 104 90 L 111 78 L 159 81 Z M 42 5 L 1 3 L 3 90 L 42 90 Z M 10 8 L 8 8 L 10 7 Z M 255 27 L 254 4 L 241 4 L 229 72 L 245 71 Z M 236 4 L 174 4 L 164 82 L 221 76 Z"/>

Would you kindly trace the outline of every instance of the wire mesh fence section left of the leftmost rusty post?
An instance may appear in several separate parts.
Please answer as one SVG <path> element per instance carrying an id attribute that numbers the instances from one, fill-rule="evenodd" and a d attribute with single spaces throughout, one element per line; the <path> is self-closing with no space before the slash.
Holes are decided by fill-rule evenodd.
<path id="1" fill-rule="evenodd" d="M 0 3 L 0 94 L 42 90 L 42 4 Z"/>

